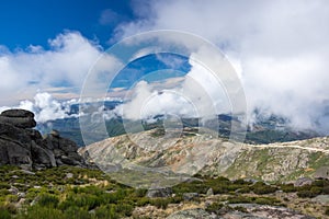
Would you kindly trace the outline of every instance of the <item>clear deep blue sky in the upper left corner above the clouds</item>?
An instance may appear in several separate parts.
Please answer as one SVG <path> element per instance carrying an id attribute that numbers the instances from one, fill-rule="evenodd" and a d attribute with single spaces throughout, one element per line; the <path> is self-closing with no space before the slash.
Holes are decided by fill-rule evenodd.
<path id="1" fill-rule="evenodd" d="M 79 31 L 109 46 L 113 30 L 134 19 L 128 0 L 12 0 L 0 2 L 0 45 L 24 49 L 47 47 L 64 30 Z"/>

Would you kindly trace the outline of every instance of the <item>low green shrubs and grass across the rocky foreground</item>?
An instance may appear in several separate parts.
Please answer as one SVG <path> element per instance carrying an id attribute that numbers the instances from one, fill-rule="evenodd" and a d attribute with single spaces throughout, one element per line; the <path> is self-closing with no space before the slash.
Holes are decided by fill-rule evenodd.
<path id="1" fill-rule="evenodd" d="M 114 182 L 99 170 L 61 166 L 26 172 L 14 166 L 0 166 L 0 218 L 124 218 L 133 217 L 134 209 L 154 206 L 167 209 L 170 205 L 204 201 L 212 194 L 217 199 L 205 208 L 209 212 L 246 211 L 231 204 L 285 206 L 287 198 L 277 199 L 274 193 L 297 193 L 299 198 L 329 194 L 329 181 L 317 180 L 311 185 L 265 184 L 242 178 L 197 175 L 190 182 L 172 187 L 173 196 L 149 198 L 147 189 L 135 189 Z M 186 199 L 185 194 L 197 193 Z M 214 196 L 215 197 L 215 196 Z M 329 215 L 329 209 L 324 214 Z M 325 212 L 326 211 L 326 212 Z M 137 217 L 138 218 L 138 217 Z"/>

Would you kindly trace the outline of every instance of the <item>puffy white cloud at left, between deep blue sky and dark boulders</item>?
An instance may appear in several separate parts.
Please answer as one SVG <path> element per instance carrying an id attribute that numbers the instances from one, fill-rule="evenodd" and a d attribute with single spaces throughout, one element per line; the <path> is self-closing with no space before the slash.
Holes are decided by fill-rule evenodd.
<path id="1" fill-rule="evenodd" d="M 78 32 L 67 31 L 48 43 L 49 50 L 32 45 L 15 53 L 0 50 L 0 105 L 31 100 L 37 90 L 56 87 L 77 88 L 79 94 L 102 49 Z"/>

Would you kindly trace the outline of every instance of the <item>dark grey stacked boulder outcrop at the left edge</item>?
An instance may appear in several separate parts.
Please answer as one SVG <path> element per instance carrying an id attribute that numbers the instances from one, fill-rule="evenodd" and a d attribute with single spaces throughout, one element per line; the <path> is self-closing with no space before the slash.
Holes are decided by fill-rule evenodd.
<path id="1" fill-rule="evenodd" d="M 45 138 L 36 126 L 34 114 L 24 110 L 9 110 L 0 115 L 0 165 L 20 165 L 25 169 L 59 165 L 86 166 L 78 154 L 78 146 L 58 131 Z"/>

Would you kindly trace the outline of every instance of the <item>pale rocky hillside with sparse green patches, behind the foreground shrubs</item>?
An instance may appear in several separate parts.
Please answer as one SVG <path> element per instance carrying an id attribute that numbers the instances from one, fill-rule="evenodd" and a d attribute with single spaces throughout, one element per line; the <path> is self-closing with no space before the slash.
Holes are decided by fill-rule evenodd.
<path id="1" fill-rule="evenodd" d="M 152 168 L 193 175 L 222 175 L 266 182 L 299 177 L 329 178 L 329 138 L 247 145 L 213 138 L 196 130 L 164 139 L 159 129 L 122 135 L 80 149 L 102 169 Z M 88 159 L 88 158 L 87 158 Z M 137 170 L 137 169 L 135 169 Z"/>

